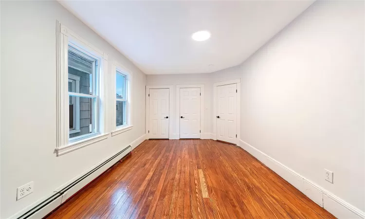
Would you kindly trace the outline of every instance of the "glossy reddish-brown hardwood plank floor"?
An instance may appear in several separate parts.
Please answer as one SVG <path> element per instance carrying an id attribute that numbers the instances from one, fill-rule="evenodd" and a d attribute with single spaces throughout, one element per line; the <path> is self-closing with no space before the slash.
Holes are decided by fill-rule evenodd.
<path id="1" fill-rule="evenodd" d="M 335 218 L 243 149 L 148 140 L 47 219 Z"/>

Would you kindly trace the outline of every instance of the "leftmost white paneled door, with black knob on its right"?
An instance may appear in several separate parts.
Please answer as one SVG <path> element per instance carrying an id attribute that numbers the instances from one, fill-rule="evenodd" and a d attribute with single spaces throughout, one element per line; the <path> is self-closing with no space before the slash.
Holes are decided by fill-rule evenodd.
<path id="1" fill-rule="evenodd" d="M 169 89 L 149 89 L 149 138 L 167 138 Z"/>

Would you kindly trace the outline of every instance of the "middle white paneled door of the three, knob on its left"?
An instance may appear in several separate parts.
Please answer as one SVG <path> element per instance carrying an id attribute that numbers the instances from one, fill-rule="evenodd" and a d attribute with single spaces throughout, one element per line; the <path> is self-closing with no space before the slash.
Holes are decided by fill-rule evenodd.
<path id="1" fill-rule="evenodd" d="M 180 89 L 180 138 L 200 138 L 200 88 Z"/>

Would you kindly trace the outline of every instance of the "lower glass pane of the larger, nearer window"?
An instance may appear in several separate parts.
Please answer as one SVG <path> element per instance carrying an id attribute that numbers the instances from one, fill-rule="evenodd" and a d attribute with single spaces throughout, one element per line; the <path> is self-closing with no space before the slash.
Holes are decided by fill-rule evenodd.
<path id="1" fill-rule="evenodd" d="M 96 132 L 96 117 L 94 113 L 96 107 L 96 99 L 76 96 L 73 96 L 71 98 L 73 98 L 73 105 L 69 106 L 70 140 L 73 140 L 72 138 L 75 137 Z"/>

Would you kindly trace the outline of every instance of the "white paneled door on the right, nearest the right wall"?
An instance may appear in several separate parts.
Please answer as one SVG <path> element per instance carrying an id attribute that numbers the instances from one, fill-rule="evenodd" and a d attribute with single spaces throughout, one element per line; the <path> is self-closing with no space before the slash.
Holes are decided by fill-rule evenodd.
<path id="1" fill-rule="evenodd" d="M 237 144 L 237 84 L 217 86 L 217 140 Z"/>

